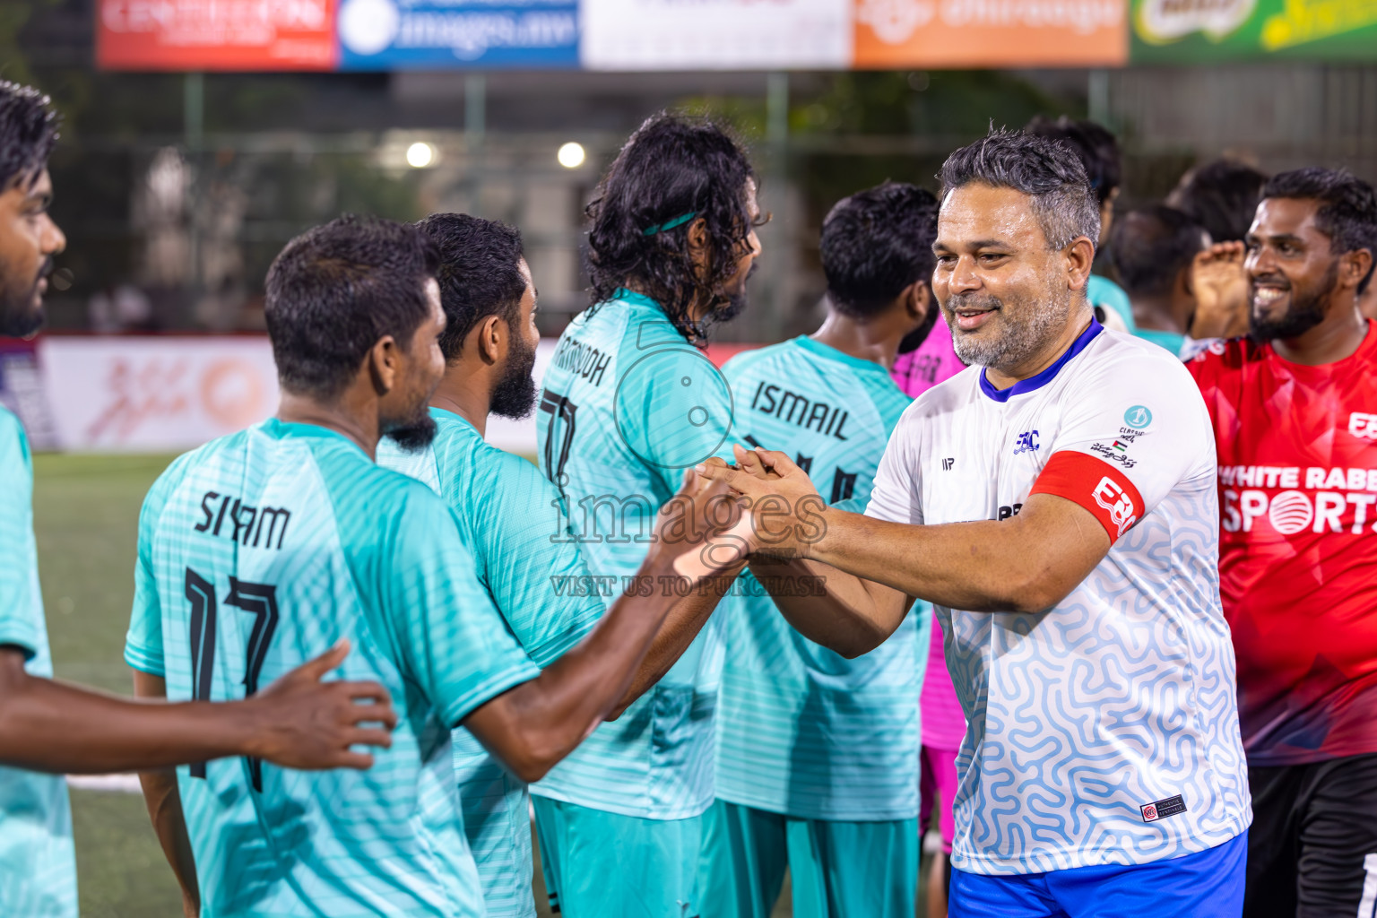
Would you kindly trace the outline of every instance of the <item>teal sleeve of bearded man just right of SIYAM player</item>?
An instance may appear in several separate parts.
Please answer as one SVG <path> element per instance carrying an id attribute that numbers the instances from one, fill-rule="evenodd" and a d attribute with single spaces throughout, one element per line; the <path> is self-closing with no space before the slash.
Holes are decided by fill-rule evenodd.
<path id="1" fill-rule="evenodd" d="M 497 457 L 497 480 L 468 531 L 481 577 L 516 640 L 548 666 L 592 630 L 605 611 L 587 584 L 578 541 L 569 535 L 559 491 L 526 460 Z M 593 593 L 580 596 L 580 593 Z"/>

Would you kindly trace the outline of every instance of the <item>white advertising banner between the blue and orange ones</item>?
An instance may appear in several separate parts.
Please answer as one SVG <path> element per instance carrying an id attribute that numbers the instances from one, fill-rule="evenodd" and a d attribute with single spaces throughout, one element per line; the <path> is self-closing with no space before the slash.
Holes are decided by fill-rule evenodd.
<path id="1" fill-rule="evenodd" d="M 852 0 L 584 0 L 589 70 L 845 70 Z"/>

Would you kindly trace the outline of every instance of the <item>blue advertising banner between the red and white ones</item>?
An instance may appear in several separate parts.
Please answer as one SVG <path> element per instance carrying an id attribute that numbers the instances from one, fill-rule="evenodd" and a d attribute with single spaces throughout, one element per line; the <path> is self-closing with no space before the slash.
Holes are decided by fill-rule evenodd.
<path id="1" fill-rule="evenodd" d="M 578 66 L 577 0 L 343 0 L 340 69 Z"/>

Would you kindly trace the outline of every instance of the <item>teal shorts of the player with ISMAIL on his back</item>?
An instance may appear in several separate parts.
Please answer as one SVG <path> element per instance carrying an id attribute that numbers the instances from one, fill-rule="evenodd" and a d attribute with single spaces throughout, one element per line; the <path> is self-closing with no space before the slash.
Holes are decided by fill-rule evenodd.
<path id="1" fill-rule="evenodd" d="M 795 819 L 719 800 L 704 820 L 700 907 L 712 918 L 770 918 L 785 867 L 795 918 L 913 918 L 917 818 Z"/>

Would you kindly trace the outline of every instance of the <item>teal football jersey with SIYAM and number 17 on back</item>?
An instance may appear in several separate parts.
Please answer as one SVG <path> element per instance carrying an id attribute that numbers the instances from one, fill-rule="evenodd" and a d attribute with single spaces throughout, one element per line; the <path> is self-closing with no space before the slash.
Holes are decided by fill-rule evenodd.
<path id="1" fill-rule="evenodd" d="M 399 723 L 369 771 L 183 765 L 201 914 L 483 915 L 450 732 L 538 674 L 450 511 L 322 427 L 269 420 L 162 473 L 143 504 L 125 659 L 172 701 L 244 698 L 347 637 Z"/>

